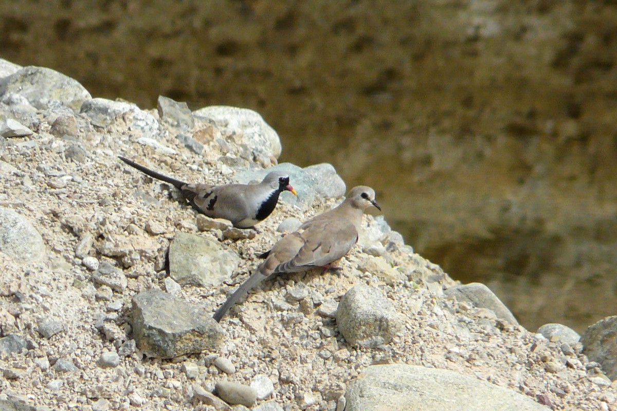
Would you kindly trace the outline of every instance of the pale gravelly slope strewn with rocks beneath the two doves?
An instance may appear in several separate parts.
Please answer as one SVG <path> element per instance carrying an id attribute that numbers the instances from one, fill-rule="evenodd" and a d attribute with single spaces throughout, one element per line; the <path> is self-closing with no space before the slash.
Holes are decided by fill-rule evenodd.
<path id="1" fill-rule="evenodd" d="M 344 192 L 331 166 L 276 165 L 278 136 L 254 112 L 165 98 L 141 110 L 0 60 L 0 133 L 4 409 L 617 405 L 576 333 L 525 330 L 379 216 L 365 217 L 338 272 L 265 283 L 213 322 L 259 253 Z M 117 155 L 194 182 L 285 168 L 299 196 L 281 196 L 261 233 L 234 230 Z"/>

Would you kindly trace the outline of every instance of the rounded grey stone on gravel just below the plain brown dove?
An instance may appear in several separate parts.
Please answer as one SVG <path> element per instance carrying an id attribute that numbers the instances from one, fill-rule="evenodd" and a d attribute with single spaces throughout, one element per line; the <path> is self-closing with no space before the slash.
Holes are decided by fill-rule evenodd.
<path id="1" fill-rule="evenodd" d="M 357 285 L 341 299 L 336 325 L 349 344 L 376 347 L 392 340 L 399 318 L 381 291 Z"/>

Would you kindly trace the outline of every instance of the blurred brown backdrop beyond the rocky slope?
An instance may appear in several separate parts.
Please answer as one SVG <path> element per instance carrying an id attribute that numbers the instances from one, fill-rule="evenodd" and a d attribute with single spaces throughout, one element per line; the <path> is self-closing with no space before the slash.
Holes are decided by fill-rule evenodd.
<path id="1" fill-rule="evenodd" d="M 608 0 L 0 3 L 0 57 L 257 110 L 530 330 L 617 314 L 616 55 Z"/>

